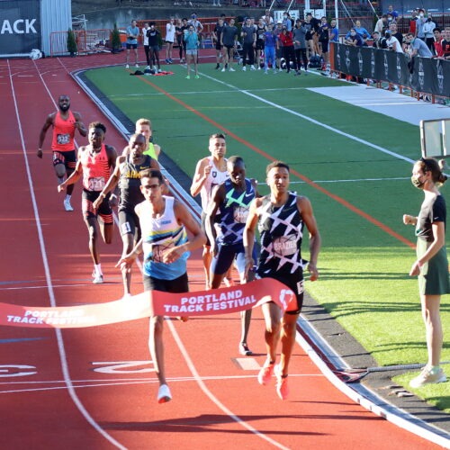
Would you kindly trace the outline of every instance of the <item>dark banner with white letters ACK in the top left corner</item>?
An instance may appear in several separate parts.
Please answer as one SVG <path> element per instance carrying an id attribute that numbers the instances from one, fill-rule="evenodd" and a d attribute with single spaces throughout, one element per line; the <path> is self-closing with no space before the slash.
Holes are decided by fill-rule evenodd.
<path id="1" fill-rule="evenodd" d="M 0 0 L 0 57 L 40 49 L 40 0 Z"/>

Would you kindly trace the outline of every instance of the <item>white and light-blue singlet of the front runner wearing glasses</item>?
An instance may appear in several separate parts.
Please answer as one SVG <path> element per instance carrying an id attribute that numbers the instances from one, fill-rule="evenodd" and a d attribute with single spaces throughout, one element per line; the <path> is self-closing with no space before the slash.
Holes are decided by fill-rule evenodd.
<path id="1" fill-rule="evenodd" d="M 144 274 L 160 280 L 175 280 L 186 272 L 186 260 L 190 252 L 184 252 L 174 263 L 161 261 L 162 253 L 187 242 L 187 234 L 183 225 L 175 218 L 174 197 L 166 197 L 164 214 L 157 219 L 152 218 L 150 203 L 145 201 L 136 206 L 142 232 L 144 250 Z"/>

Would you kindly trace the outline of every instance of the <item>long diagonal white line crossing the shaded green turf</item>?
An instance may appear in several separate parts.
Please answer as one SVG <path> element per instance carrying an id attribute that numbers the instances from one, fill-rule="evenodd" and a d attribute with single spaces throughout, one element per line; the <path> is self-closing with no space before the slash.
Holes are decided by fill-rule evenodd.
<path id="1" fill-rule="evenodd" d="M 257 94 L 252 94 L 248 90 L 239 89 L 235 85 L 230 85 L 229 83 L 225 83 L 224 81 L 221 81 L 220 79 L 214 78 L 213 76 L 209 76 L 209 75 L 206 75 L 204 73 L 201 73 L 201 75 L 203 77 L 205 77 L 205 78 L 209 78 L 212 81 L 215 81 L 216 83 L 219 83 L 220 85 L 226 85 L 230 89 L 238 91 L 241 94 L 248 95 L 248 96 L 254 98 L 255 100 L 257 100 L 259 102 L 269 104 L 270 106 L 273 106 L 276 109 L 279 109 L 279 110 L 284 111 L 284 112 L 288 112 L 290 114 L 293 114 L 296 117 L 300 117 L 304 121 L 310 121 L 311 123 L 314 123 L 314 125 L 317 125 L 319 127 L 325 128 L 326 130 L 329 130 L 329 131 L 332 131 L 334 133 L 337 133 L 340 136 L 344 136 L 347 139 L 356 140 L 356 142 L 358 142 L 360 144 L 363 144 L 363 145 L 365 145 L 367 147 L 371 147 L 371 148 L 374 148 L 375 150 L 378 150 L 378 151 L 381 151 L 383 153 L 386 153 L 387 155 L 390 155 L 391 157 L 396 157 L 398 159 L 402 159 L 403 161 L 406 161 L 406 162 L 411 163 L 411 164 L 414 163 L 414 160 L 410 159 L 409 157 L 404 157 L 403 155 L 400 155 L 399 153 L 395 153 L 395 152 L 393 152 L 391 150 L 388 150 L 387 148 L 383 148 L 383 147 L 381 147 L 379 145 L 373 144 L 372 142 L 369 142 L 368 140 L 358 138 L 358 137 L 354 136 L 353 134 L 349 134 L 349 133 L 346 133 L 345 131 L 338 130 L 337 128 L 334 128 L 334 127 L 331 127 L 330 125 L 327 125 L 326 123 L 322 123 L 320 121 L 316 121 L 315 119 L 312 119 L 310 116 L 304 115 L 301 112 L 293 111 L 292 109 L 289 109 L 289 108 L 285 108 L 281 104 L 270 102 L 269 100 L 266 100 L 265 98 L 260 97 Z"/>

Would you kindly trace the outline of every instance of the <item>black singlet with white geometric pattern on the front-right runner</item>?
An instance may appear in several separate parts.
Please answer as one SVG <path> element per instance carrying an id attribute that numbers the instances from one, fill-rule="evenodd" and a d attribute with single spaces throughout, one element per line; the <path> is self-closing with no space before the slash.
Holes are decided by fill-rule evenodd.
<path id="1" fill-rule="evenodd" d="M 257 267 L 260 276 L 289 276 L 306 266 L 302 259 L 302 214 L 297 207 L 297 195 L 289 193 L 287 202 L 276 207 L 270 195 L 264 197 L 258 210 L 261 235 L 261 256 Z"/>

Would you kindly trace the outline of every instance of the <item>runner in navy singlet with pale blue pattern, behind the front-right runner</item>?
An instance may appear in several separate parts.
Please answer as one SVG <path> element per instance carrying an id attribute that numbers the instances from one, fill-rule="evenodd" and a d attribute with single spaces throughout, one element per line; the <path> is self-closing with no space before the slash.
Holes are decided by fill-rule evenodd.
<path id="1" fill-rule="evenodd" d="M 227 170 L 229 179 L 214 187 L 205 219 L 207 236 L 211 242 L 212 289 L 220 287 L 233 261 L 238 267 L 240 283 L 246 283 L 246 260 L 242 239 L 250 203 L 257 195 L 257 186 L 255 180 L 246 178 L 246 166 L 241 157 L 230 157 L 227 161 Z M 219 223 L 216 220 L 218 211 L 220 211 Z M 253 355 L 247 346 L 251 313 L 251 310 L 240 313 L 241 335 L 238 351 L 244 356 Z"/>

